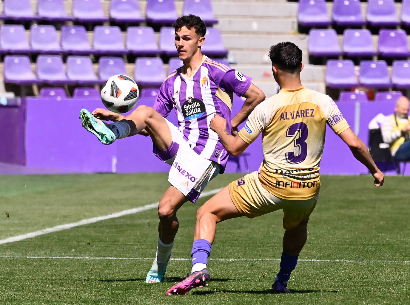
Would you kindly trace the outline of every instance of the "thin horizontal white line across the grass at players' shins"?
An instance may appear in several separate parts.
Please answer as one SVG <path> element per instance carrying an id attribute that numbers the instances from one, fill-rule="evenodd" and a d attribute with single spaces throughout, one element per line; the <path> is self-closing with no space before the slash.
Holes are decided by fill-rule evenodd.
<path id="1" fill-rule="evenodd" d="M 154 260 L 154 258 L 114 258 L 114 257 L 89 257 L 89 256 L 0 256 L 1 258 L 32 258 L 43 260 Z M 191 258 L 170 258 L 170 260 L 189 260 Z M 210 258 L 219 262 L 255 262 L 255 261 L 280 261 L 280 258 Z M 348 262 L 348 263 L 410 263 L 410 260 L 311 260 L 301 259 L 298 262 Z"/>

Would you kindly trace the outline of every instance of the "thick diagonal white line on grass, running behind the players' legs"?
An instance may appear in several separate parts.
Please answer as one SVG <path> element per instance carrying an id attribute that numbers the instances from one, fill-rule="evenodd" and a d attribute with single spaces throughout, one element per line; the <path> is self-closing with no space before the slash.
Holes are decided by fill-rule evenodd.
<path id="1" fill-rule="evenodd" d="M 210 190 L 209 192 L 203 192 L 201 194 L 201 197 L 214 195 L 217 192 L 219 192 L 220 190 L 222 190 L 222 188 L 219 188 L 219 189 L 216 189 L 216 190 Z M 77 221 L 77 222 L 72 222 L 71 224 L 62 224 L 62 225 L 55 226 L 55 227 L 52 227 L 52 228 L 46 228 L 46 229 L 43 229 L 43 230 L 30 232 L 30 233 L 27 233 L 27 234 L 18 235 L 18 236 L 14 236 L 14 237 L 9 237 L 9 238 L 6 238 L 6 239 L 0 239 L 0 245 L 7 244 L 9 242 L 18 242 L 19 240 L 32 238 L 32 237 L 36 237 L 36 236 L 39 236 L 39 235 L 44 235 L 44 234 L 48 234 L 48 233 L 54 233 L 54 232 L 58 232 L 58 231 L 62 231 L 62 230 L 67 230 L 67 229 L 71 229 L 71 228 L 74 228 L 74 227 L 83 226 L 85 224 L 93 224 L 94 222 L 97 222 L 97 221 L 103 221 L 103 220 L 106 220 L 106 219 L 118 218 L 118 217 L 122 217 L 122 216 L 125 216 L 125 215 L 135 214 L 135 213 L 139 213 L 139 212 L 143 212 L 143 211 L 146 211 L 146 210 L 156 208 L 157 206 L 158 206 L 158 202 L 150 203 L 150 204 L 147 204 L 145 206 L 141 206 L 139 208 L 133 208 L 133 209 L 130 209 L 130 210 L 123 210 L 121 212 L 117 212 L 117 213 L 113 213 L 113 214 L 109 214 L 109 215 L 105 215 L 105 216 L 98 216 L 98 217 L 93 217 L 93 218 L 89 218 L 89 219 L 83 219 L 83 220 L 80 220 L 80 221 Z"/>

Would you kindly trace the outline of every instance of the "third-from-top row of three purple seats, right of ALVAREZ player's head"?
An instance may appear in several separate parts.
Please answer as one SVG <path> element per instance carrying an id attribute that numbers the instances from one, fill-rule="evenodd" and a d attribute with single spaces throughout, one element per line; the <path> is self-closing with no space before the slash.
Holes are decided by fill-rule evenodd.
<path id="1" fill-rule="evenodd" d="M 326 85 L 330 88 L 410 88 L 410 61 L 396 60 L 392 64 L 392 77 L 385 61 L 364 60 L 360 62 L 359 73 L 351 60 L 329 59 L 326 63 Z"/>

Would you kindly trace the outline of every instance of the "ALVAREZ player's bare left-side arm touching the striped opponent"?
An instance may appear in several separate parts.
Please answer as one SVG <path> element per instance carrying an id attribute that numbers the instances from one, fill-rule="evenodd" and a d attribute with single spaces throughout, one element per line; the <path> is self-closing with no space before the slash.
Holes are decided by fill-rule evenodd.
<path id="1" fill-rule="evenodd" d="M 237 134 L 232 136 L 226 130 L 226 120 L 217 114 L 215 114 L 212 118 L 210 127 L 213 131 L 218 133 L 223 147 L 225 147 L 226 151 L 228 151 L 228 153 L 232 156 L 242 154 L 246 147 L 249 146 L 249 144 L 242 140 Z"/>

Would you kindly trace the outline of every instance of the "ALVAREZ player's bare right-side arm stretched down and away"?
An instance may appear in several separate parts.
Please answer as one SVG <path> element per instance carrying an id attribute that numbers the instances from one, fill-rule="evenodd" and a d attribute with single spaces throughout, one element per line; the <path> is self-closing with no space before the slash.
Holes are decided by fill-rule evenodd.
<path id="1" fill-rule="evenodd" d="M 374 185 L 382 186 L 384 183 L 384 174 L 378 169 L 373 159 L 370 156 L 369 149 L 364 145 L 363 141 L 348 128 L 339 134 L 339 137 L 346 143 L 352 151 L 353 156 L 369 169 L 370 174 L 374 177 Z"/>

